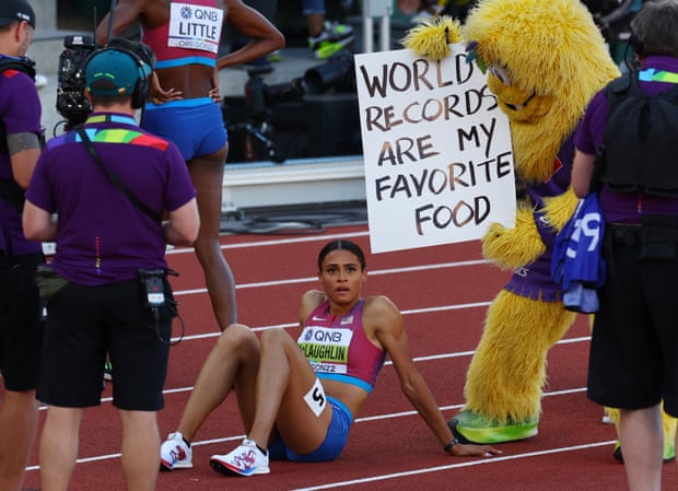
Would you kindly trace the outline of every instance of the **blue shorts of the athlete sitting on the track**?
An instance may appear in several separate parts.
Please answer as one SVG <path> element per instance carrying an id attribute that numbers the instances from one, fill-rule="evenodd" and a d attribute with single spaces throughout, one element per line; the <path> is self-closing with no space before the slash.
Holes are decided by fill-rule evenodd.
<path id="1" fill-rule="evenodd" d="M 309 454 L 299 455 L 292 452 L 280 436 L 277 436 L 268 447 L 268 455 L 272 460 L 328 461 L 339 457 L 349 437 L 353 416 L 349 408 L 339 400 L 329 396 L 327 400 L 332 407 L 332 420 L 323 444 Z"/>

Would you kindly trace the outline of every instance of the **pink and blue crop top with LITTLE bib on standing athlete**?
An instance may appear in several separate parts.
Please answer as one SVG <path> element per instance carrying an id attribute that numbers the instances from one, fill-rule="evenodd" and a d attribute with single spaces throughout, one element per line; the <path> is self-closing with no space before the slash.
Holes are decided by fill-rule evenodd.
<path id="1" fill-rule="evenodd" d="M 224 11 L 214 0 L 184 0 L 170 3 L 170 20 L 144 28 L 141 40 L 155 52 L 155 68 L 185 65 L 217 65 Z"/>

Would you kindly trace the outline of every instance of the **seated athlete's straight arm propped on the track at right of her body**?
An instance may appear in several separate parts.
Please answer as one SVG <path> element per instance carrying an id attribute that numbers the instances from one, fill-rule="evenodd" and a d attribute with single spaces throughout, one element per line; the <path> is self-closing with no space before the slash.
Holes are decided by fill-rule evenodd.
<path id="1" fill-rule="evenodd" d="M 435 398 L 412 360 L 410 343 L 398 307 L 386 296 L 371 296 L 363 307 L 363 326 L 384 347 L 400 379 L 400 388 L 417 412 L 439 440 L 441 448 L 453 443 L 453 434 L 443 418 Z M 489 445 L 454 444 L 452 455 L 490 456 L 500 451 Z"/>

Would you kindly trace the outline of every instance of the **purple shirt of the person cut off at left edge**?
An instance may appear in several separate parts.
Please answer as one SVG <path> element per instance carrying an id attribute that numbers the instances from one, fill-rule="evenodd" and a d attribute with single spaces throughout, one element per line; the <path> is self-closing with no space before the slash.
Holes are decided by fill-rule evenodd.
<path id="1" fill-rule="evenodd" d="M 27 74 L 16 70 L 0 73 L 0 120 L 7 135 L 40 135 L 40 101 L 35 82 Z M 0 178 L 12 178 L 12 161 L 4 152 L 0 152 Z M 0 199 L 0 250 L 13 256 L 42 250 L 38 242 L 26 241 L 21 213 L 3 199 Z"/>

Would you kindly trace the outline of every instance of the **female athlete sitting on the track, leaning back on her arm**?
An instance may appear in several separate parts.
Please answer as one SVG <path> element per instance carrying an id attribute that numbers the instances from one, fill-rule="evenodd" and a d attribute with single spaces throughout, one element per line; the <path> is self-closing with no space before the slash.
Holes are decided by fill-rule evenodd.
<path id="1" fill-rule="evenodd" d="M 177 431 L 161 447 L 163 469 L 192 467 L 190 440 L 233 387 L 247 437 L 231 453 L 211 457 L 215 471 L 268 474 L 269 457 L 337 458 L 387 354 L 402 391 L 445 452 L 457 456 L 500 453 L 453 437 L 414 366 L 400 312 L 386 296 L 361 297 L 367 271 L 356 244 L 328 243 L 318 256 L 318 278 L 324 292 L 311 290 L 302 296 L 296 341 L 280 328 L 265 330 L 259 340 L 239 324 L 220 336 Z"/>

